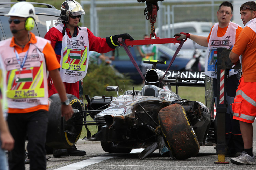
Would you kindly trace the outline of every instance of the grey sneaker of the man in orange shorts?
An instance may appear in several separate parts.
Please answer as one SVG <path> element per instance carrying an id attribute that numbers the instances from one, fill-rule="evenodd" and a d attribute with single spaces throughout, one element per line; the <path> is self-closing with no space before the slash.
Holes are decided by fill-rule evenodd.
<path id="1" fill-rule="evenodd" d="M 233 164 L 237 165 L 255 165 L 256 159 L 255 156 L 250 156 L 247 154 L 247 152 L 242 152 L 240 156 L 236 158 L 231 158 L 230 160 Z"/>

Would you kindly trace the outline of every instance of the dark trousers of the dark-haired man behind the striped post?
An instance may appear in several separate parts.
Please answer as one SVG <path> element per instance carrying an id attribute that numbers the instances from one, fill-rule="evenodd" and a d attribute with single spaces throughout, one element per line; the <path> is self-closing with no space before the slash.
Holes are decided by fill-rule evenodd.
<path id="1" fill-rule="evenodd" d="M 238 151 L 243 151 L 244 143 L 240 131 L 239 121 L 233 119 L 232 104 L 234 102 L 234 97 L 236 96 L 236 89 L 238 86 L 238 77 L 237 75 L 231 75 L 227 78 L 226 81 L 226 103 L 227 103 L 227 112 L 225 114 L 225 133 L 226 133 L 226 145 L 230 153 L 236 153 Z M 217 97 L 217 79 L 213 79 L 213 91 L 216 102 Z M 217 107 L 217 105 L 216 105 Z M 218 114 L 216 115 L 218 119 Z"/>

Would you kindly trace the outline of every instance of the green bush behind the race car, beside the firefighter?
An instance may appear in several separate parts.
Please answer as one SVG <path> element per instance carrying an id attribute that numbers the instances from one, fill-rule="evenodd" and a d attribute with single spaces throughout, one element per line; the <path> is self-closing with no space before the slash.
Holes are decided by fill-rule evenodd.
<path id="1" fill-rule="evenodd" d="M 119 94 L 122 94 L 120 90 L 125 91 L 124 84 L 127 88 L 132 85 L 132 80 L 126 75 L 120 74 L 112 66 L 90 63 L 87 74 L 83 79 L 83 94 L 90 95 L 90 97 L 102 95 L 117 96 L 116 92 L 106 91 L 106 87 L 119 86 Z"/>

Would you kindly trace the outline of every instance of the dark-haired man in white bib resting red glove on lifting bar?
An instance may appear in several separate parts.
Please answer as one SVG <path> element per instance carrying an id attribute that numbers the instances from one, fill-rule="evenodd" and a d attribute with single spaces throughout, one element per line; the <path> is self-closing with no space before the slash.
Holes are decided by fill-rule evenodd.
<path id="1" fill-rule="evenodd" d="M 218 23 L 215 23 L 208 37 L 193 35 L 189 33 L 177 33 L 174 36 L 181 36 L 177 40 L 190 38 L 197 44 L 208 47 L 208 56 L 205 57 L 205 74 L 213 77 L 214 99 L 217 101 L 217 72 L 215 63 L 217 62 L 217 48 L 231 48 L 236 42 L 242 27 L 236 23 L 230 22 L 232 18 L 233 6 L 230 2 L 224 1 L 219 5 L 217 11 Z M 227 154 L 226 157 L 239 156 L 243 151 L 243 140 L 239 128 L 238 120 L 233 119 L 232 107 L 235 97 L 235 91 L 238 85 L 240 74 L 238 70 L 232 69 L 227 77 L 226 99 L 228 103 L 227 112 L 225 114 L 225 131 Z M 218 115 L 216 115 L 218 118 Z"/>

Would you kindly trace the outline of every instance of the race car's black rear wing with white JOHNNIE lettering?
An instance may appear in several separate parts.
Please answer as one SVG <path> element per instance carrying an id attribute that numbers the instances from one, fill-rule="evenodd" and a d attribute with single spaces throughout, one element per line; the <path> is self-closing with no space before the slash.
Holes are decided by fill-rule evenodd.
<path id="1" fill-rule="evenodd" d="M 205 81 L 210 77 L 205 75 L 203 71 L 176 71 L 168 70 L 166 73 L 168 79 L 163 79 L 169 82 L 171 86 L 192 86 L 192 87 L 205 87 Z"/>

